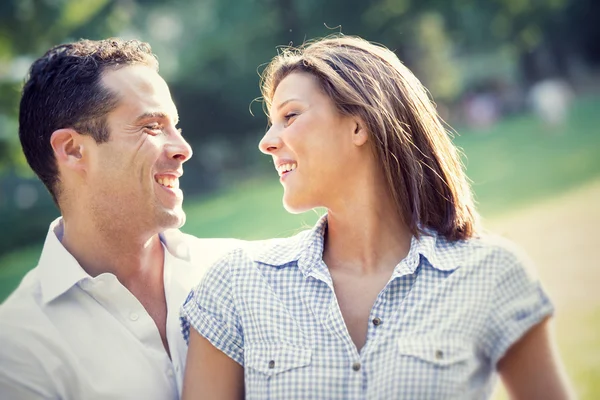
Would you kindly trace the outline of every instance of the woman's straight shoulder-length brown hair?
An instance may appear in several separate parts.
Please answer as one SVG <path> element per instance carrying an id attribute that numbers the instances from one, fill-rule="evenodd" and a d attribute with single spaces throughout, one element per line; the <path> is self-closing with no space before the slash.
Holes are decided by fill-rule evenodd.
<path id="1" fill-rule="evenodd" d="M 477 213 L 458 150 L 426 89 L 393 52 L 349 36 L 285 48 L 262 75 L 267 113 L 275 89 L 294 72 L 317 77 L 340 113 L 364 121 L 399 216 L 414 235 L 475 234 Z"/>

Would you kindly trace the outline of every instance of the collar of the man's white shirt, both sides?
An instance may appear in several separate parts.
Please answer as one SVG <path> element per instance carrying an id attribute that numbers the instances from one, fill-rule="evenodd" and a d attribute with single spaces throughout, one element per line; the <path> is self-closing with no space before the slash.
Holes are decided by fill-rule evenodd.
<path id="1" fill-rule="evenodd" d="M 63 234 L 63 219 L 59 217 L 50 224 L 38 263 L 44 303 L 56 299 L 80 281 L 91 279 L 62 245 Z M 178 229 L 169 229 L 159 236 L 170 255 L 182 261 L 190 261 L 191 254 L 185 234 Z"/>

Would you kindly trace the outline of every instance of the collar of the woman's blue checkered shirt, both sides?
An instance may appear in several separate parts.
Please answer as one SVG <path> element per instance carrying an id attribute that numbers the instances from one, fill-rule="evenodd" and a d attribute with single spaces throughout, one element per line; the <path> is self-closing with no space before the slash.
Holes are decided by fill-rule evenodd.
<path id="1" fill-rule="evenodd" d="M 289 239 L 268 241 L 253 257 L 255 262 L 283 267 L 297 262 L 298 268 L 308 276 L 314 268 L 322 265 L 325 230 L 327 229 L 327 214 L 323 215 L 315 226 Z M 428 263 L 440 271 L 452 271 L 459 265 L 456 257 L 456 247 L 459 242 L 448 242 L 440 238 L 434 231 L 425 230 L 417 239 L 412 237 L 410 250 L 406 258 L 396 270 L 402 273 L 414 273 L 424 257 Z"/>

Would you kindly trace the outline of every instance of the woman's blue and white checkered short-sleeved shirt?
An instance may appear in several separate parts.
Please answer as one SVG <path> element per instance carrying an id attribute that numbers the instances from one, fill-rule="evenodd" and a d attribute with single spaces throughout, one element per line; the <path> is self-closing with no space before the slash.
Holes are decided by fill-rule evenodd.
<path id="1" fill-rule="evenodd" d="M 360 353 L 322 260 L 324 216 L 230 253 L 182 307 L 244 367 L 248 399 L 483 399 L 506 350 L 553 311 L 526 258 L 492 237 L 413 238 L 379 293 Z"/>

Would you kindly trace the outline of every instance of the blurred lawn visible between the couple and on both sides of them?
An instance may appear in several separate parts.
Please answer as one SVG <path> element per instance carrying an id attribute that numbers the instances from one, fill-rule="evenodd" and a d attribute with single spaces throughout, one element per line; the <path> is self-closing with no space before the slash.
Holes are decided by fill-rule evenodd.
<path id="1" fill-rule="evenodd" d="M 579 99 L 561 129 L 548 131 L 532 116 L 502 121 L 487 132 L 461 130 L 482 214 L 490 216 L 564 193 L 600 177 L 600 98 Z M 184 231 L 200 237 L 246 239 L 292 235 L 316 212 L 290 215 L 281 205 L 275 172 L 220 193 L 188 198 Z M 39 257 L 41 244 L 0 258 L 0 301 Z M 557 318 L 558 345 L 582 399 L 600 398 L 600 310 L 581 307 Z"/>

